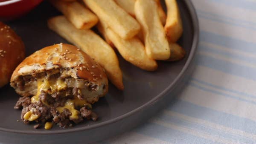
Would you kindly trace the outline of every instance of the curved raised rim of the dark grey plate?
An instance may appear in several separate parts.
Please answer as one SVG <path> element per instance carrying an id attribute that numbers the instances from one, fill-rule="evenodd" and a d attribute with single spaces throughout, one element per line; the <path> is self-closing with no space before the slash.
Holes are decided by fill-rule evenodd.
<path id="1" fill-rule="evenodd" d="M 182 70 L 180 71 L 180 73 L 175 78 L 175 80 L 168 87 L 166 87 L 166 89 L 164 89 L 162 92 L 160 92 L 160 94 L 155 96 L 153 99 L 151 99 L 147 103 L 141 105 L 140 107 L 137 107 L 136 109 L 131 110 L 130 112 L 127 112 L 123 115 L 120 115 L 119 117 L 110 119 L 108 121 L 101 122 L 99 124 L 93 124 L 93 125 L 90 125 L 90 126 L 86 126 L 86 127 L 76 127 L 76 128 L 73 128 L 73 129 L 55 130 L 55 131 L 35 131 L 35 130 L 22 131 L 22 130 L 14 130 L 14 129 L 7 129 L 7 128 L 0 127 L 0 131 L 20 133 L 20 134 L 32 134 L 32 135 L 52 135 L 52 134 L 65 134 L 65 133 L 70 133 L 70 132 L 78 132 L 78 131 L 83 131 L 83 130 L 91 130 L 91 129 L 96 129 L 98 127 L 102 127 L 104 125 L 112 124 L 116 121 L 120 121 L 124 118 L 127 118 L 130 115 L 133 115 L 137 112 L 140 112 L 140 110 L 144 109 L 148 105 L 154 104 L 157 101 L 159 101 L 162 97 L 164 97 L 170 91 L 170 89 L 172 89 L 173 86 L 175 86 L 182 79 L 182 77 L 184 75 L 186 75 L 186 71 L 187 71 L 187 69 L 189 69 L 189 66 L 192 63 L 192 60 L 195 57 L 195 53 L 196 53 L 198 43 L 199 43 L 199 22 L 198 22 L 198 15 L 196 13 L 195 6 L 193 5 L 191 0 L 183 0 L 183 2 L 186 4 L 187 9 L 189 10 L 189 14 L 190 14 L 191 19 L 192 19 L 192 27 L 194 29 L 193 39 L 192 39 L 192 46 L 191 46 L 191 49 L 190 49 L 190 52 L 189 52 L 189 57 L 186 60 L 186 63 L 183 66 Z"/>

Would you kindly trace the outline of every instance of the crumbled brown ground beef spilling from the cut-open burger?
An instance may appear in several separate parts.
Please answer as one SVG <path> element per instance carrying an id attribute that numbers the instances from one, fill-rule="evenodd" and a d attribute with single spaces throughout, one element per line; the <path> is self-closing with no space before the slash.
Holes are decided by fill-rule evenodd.
<path id="1" fill-rule="evenodd" d="M 63 96 L 65 95 L 65 96 Z M 24 119 L 26 112 L 31 111 L 34 115 L 38 115 L 35 122 L 44 124 L 47 121 L 52 121 L 54 124 L 58 124 L 60 127 L 72 127 L 73 124 L 78 124 L 86 119 L 97 120 L 97 115 L 92 112 L 88 107 L 75 107 L 78 110 L 78 118 L 71 119 L 71 112 L 69 109 L 64 109 L 61 113 L 56 109 L 57 107 L 63 107 L 68 99 L 74 99 L 74 95 L 77 95 L 77 88 L 68 88 L 64 92 L 56 92 L 48 94 L 41 91 L 39 95 L 39 101 L 31 103 L 30 97 L 21 97 L 15 104 L 15 109 L 21 109 L 21 120 L 27 124 L 30 121 Z M 79 95 L 77 95 L 79 97 Z M 45 104 L 47 102 L 48 106 Z M 36 124 L 35 129 L 39 128 L 41 124 Z"/>

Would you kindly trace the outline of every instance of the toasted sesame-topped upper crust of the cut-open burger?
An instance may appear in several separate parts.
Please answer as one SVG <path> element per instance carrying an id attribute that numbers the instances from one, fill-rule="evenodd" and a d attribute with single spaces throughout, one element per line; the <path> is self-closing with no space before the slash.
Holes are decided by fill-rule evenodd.
<path id="1" fill-rule="evenodd" d="M 11 82 L 20 75 L 33 75 L 57 68 L 73 69 L 69 73 L 71 77 L 95 84 L 108 81 L 104 69 L 86 53 L 76 46 L 60 43 L 40 49 L 23 60 L 13 72 Z"/>

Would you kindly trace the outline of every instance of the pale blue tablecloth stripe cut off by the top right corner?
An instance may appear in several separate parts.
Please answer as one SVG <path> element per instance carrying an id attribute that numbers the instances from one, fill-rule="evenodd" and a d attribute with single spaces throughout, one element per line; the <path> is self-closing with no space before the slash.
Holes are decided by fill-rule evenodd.
<path id="1" fill-rule="evenodd" d="M 239 7 L 243 9 L 256 10 L 256 3 L 244 0 L 211 0 L 216 3 L 224 3 L 229 6 Z"/>

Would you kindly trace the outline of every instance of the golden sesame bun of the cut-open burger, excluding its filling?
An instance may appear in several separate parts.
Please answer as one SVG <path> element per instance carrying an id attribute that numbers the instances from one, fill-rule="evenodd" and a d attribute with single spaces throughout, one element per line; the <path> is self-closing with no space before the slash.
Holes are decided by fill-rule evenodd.
<path id="1" fill-rule="evenodd" d="M 62 43 L 40 49 L 23 60 L 12 74 L 11 86 L 22 96 L 35 95 L 36 81 L 34 80 L 33 85 L 25 84 L 24 89 L 21 89 L 17 86 L 17 83 L 21 81 L 20 78 L 29 75 L 33 79 L 37 79 L 39 74 L 54 73 L 55 71 L 61 74 L 61 78 L 72 78 L 74 82 L 71 86 L 82 89 L 86 99 L 93 97 L 97 100 L 108 92 L 108 79 L 104 69 L 81 49 Z M 76 84 L 81 80 L 86 82 L 85 84 L 90 82 L 97 88 L 88 91 L 86 85 L 78 86 Z"/>

